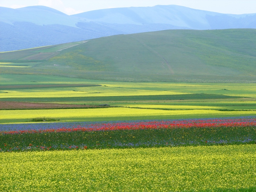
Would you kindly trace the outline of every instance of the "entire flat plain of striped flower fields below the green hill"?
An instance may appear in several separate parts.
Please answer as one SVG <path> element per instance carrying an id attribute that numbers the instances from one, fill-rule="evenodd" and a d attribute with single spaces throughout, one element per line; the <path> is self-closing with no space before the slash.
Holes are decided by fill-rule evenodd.
<path id="1" fill-rule="evenodd" d="M 0 191 L 256 190 L 254 84 L 0 79 Z"/>

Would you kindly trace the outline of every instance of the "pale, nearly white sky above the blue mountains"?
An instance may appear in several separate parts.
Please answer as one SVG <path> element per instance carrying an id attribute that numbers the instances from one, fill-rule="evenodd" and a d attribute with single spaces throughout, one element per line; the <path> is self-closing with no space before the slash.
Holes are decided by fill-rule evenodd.
<path id="1" fill-rule="evenodd" d="M 219 13 L 256 13 L 256 0 L 0 0 L 0 7 L 16 9 L 44 5 L 68 15 L 98 9 L 172 4 Z"/>

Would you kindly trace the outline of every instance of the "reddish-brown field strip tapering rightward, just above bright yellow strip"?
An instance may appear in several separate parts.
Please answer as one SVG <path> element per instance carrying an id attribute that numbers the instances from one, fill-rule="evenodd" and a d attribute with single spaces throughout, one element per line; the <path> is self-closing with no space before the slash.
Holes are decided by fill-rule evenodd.
<path id="1" fill-rule="evenodd" d="M 108 108 L 104 105 L 76 105 L 60 103 L 32 103 L 17 101 L 0 101 L 0 110 L 8 109 L 72 109 L 72 108 Z"/>

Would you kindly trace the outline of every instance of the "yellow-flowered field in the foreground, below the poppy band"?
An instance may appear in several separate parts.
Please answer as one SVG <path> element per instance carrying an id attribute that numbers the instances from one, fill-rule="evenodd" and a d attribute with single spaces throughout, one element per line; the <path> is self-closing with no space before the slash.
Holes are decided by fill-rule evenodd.
<path id="1" fill-rule="evenodd" d="M 254 145 L 0 153 L 0 161 L 5 192 L 256 190 Z"/>

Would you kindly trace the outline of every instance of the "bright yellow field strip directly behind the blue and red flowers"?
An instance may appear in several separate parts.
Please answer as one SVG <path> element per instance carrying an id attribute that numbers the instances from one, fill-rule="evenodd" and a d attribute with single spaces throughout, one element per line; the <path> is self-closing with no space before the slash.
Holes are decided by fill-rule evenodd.
<path id="1" fill-rule="evenodd" d="M 60 118 L 60 120 L 130 120 L 137 119 L 179 119 L 205 116 L 248 116 L 256 111 L 217 111 L 217 110 L 161 110 L 137 108 L 89 108 L 89 109 L 38 109 L 2 110 L 0 120 L 31 119 L 37 117 Z"/>

